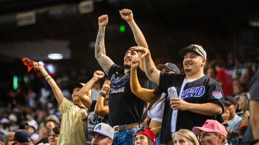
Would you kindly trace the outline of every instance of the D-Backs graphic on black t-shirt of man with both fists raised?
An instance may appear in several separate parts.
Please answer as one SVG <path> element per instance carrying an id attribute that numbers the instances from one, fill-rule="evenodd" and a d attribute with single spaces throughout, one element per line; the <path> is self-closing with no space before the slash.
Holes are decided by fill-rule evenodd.
<path id="1" fill-rule="evenodd" d="M 124 92 L 125 89 L 125 84 L 130 80 L 130 74 L 126 73 L 123 75 L 123 77 L 115 77 L 113 74 L 111 77 L 111 92 L 112 93 L 119 93 L 119 92 Z"/>

